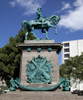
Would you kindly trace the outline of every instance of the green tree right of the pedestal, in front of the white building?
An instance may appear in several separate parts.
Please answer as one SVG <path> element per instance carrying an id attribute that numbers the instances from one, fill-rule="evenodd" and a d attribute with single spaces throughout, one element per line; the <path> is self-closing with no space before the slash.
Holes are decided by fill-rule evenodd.
<path id="1" fill-rule="evenodd" d="M 62 64 L 60 75 L 64 78 L 83 80 L 83 53 L 80 56 L 70 57 L 65 64 Z"/>

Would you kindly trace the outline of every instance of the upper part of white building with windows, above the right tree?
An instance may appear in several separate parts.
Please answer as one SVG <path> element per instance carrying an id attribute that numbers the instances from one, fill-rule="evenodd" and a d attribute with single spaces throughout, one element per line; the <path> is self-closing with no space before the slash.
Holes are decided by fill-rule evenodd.
<path id="1" fill-rule="evenodd" d="M 62 42 L 62 63 L 65 63 L 69 57 L 81 55 L 83 52 L 83 39 Z"/>

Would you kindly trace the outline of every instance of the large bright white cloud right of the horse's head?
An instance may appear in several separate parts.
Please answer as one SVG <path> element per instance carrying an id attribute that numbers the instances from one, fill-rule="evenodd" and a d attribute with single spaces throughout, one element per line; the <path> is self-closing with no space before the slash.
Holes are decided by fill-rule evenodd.
<path id="1" fill-rule="evenodd" d="M 68 13 L 61 16 L 59 26 L 73 31 L 83 30 L 83 0 L 76 0 L 73 3 L 74 10 L 68 10 Z"/>

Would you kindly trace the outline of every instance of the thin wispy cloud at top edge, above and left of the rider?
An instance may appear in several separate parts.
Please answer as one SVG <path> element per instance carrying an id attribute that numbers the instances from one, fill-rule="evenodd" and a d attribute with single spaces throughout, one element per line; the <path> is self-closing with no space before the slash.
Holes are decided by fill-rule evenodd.
<path id="1" fill-rule="evenodd" d="M 45 1 L 46 0 L 13 0 L 10 3 L 12 6 L 15 4 L 18 5 L 19 7 L 24 8 L 25 9 L 24 14 L 29 15 L 36 13 L 37 8 L 42 7 Z"/>

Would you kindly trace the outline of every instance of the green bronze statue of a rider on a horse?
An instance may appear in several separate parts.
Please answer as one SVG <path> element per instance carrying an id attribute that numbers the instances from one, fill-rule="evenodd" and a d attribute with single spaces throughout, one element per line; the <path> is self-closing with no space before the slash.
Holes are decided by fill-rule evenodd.
<path id="1" fill-rule="evenodd" d="M 55 25 L 59 22 L 60 17 L 56 15 L 52 15 L 50 17 L 42 17 L 41 8 L 37 9 L 38 18 L 36 20 L 31 20 L 27 22 L 26 20 L 22 21 L 22 30 L 25 28 L 27 32 L 25 33 L 25 40 L 27 40 L 27 35 L 31 32 L 35 37 L 34 29 L 41 29 L 42 33 L 46 33 L 46 39 L 48 38 L 48 30 L 50 27 L 55 28 L 55 34 L 57 33 L 57 29 Z M 38 39 L 38 38 L 37 38 Z"/>

